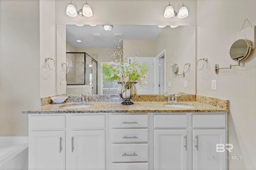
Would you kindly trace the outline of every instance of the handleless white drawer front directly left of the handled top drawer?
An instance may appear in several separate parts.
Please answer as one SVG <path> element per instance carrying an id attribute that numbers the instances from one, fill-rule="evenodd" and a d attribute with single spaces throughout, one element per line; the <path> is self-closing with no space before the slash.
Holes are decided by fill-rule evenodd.
<path id="1" fill-rule="evenodd" d="M 105 128 L 105 115 L 72 115 L 71 128 Z"/>

